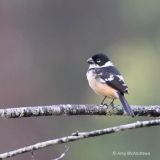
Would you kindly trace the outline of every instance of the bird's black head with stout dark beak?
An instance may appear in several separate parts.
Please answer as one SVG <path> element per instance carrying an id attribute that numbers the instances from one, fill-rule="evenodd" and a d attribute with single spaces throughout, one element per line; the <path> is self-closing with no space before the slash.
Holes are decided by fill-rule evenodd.
<path id="1" fill-rule="evenodd" d="M 95 54 L 87 60 L 89 64 L 97 64 L 99 66 L 103 66 L 108 61 L 110 61 L 110 59 L 103 53 Z"/>

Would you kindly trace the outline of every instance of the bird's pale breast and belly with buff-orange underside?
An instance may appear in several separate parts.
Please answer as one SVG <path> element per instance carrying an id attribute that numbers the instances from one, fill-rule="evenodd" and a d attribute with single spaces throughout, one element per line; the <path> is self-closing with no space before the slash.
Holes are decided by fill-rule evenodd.
<path id="1" fill-rule="evenodd" d="M 89 86 L 99 95 L 107 96 L 109 98 L 116 99 L 118 98 L 117 91 L 103 82 L 93 70 L 87 72 L 87 79 Z"/>

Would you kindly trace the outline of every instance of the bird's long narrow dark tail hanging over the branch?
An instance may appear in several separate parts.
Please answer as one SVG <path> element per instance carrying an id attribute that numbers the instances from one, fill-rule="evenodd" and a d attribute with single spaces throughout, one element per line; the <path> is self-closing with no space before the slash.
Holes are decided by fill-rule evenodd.
<path id="1" fill-rule="evenodd" d="M 129 116 L 134 117 L 135 116 L 134 112 L 132 111 L 131 107 L 129 106 L 127 100 L 125 99 L 125 97 L 123 95 L 123 93 L 118 92 L 118 95 L 119 95 L 119 100 L 121 101 L 124 110 L 127 112 L 127 114 Z"/>

